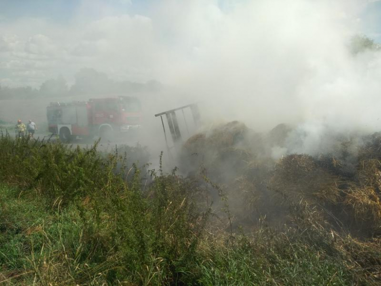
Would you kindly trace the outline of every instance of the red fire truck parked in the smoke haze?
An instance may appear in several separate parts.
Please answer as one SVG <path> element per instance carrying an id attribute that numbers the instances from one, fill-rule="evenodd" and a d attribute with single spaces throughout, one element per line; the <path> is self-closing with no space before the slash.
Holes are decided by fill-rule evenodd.
<path id="1" fill-rule="evenodd" d="M 111 140 L 140 128 L 142 110 L 136 97 L 97 98 L 70 103 L 52 102 L 47 107 L 49 132 L 69 142 L 77 136 Z"/>

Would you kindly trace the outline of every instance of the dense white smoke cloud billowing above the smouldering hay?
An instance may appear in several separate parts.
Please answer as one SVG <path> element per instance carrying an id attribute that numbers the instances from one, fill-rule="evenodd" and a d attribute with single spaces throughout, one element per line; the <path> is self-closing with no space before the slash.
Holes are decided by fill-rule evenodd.
<path id="1" fill-rule="evenodd" d="M 220 118 L 256 130 L 300 121 L 377 130 L 380 54 L 350 53 L 355 4 L 242 3 L 219 18 L 194 66 L 173 82 Z"/>

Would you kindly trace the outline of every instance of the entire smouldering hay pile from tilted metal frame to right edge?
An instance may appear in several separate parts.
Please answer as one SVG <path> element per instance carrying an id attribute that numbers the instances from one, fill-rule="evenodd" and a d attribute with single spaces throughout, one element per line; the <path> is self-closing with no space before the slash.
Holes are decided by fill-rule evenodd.
<path id="1" fill-rule="evenodd" d="M 287 223 L 290 208 L 303 201 L 322 225 L 353 235 L 381 235 L 381 134 L 360 146 L 354 143 L 358 138 L 344 138 L 328 154 L 290 154 L 274 161 L 266 140 L 280 133 L 278 144 L 289 129 L 277 131 L 260 135 L 234 121 L 191 137 L 184 154 L 193 154 L 191 168 L 202 164 L 223 187 L 236 224 L 264 216 Z"/>

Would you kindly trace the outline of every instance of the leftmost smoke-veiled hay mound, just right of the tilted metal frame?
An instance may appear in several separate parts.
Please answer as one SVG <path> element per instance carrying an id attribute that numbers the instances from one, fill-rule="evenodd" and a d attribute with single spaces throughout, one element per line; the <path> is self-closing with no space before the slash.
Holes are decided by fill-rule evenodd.
<path id="1" fill-rule="evenodd" d="M 195 174 L 195 170 L 206 170 L 203 176 L 217 183 L 223 194 L 228 195 L 234 219 L 251 220 L 258 216 L 254 215 L 258 205 L 263 205 L 258 202 L 266 195 L 264 180 L 270 174 L 270 168 L 265 168 L 268 162 L 259 158 L 261 148 L 260 134 L 241 122 L 229 122 L 189 138 L 183 145 L 180 170 L 187 170 L 188 176 Z M 219 210 L 221 198 L 217 191 L 211 190 L 211 197 Z"/>

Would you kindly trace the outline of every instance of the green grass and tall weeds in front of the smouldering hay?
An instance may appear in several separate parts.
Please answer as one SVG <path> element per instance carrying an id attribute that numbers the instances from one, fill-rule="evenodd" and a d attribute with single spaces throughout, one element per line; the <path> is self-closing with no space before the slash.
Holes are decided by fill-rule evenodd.
<path id="1" fill-rule="evenodd" d="M 232 230 L 214 225 L 198 182 L 161 168 L 146 176 L 128 154 L 96 147 L 1 136 L 0 284 L 381 283 L 380 241 L 323 227 L 309 205 L 290 205 L 277 229 Z"/>

